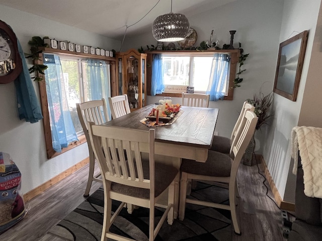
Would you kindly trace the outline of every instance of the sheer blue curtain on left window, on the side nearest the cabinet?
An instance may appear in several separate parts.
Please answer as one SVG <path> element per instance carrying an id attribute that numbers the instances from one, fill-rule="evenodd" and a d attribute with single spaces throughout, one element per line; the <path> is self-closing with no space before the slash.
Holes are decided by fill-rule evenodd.
<path id="1" fill-rule="evenodd" d="M 99 100 L 111 96 L 110 79 L 107 74 L 107 65 L 100 60 L 87 60 L 87 76 L 89 86 L 89 100 Z M 108 115 L 111 118 L 111 111 L 108 108 Z M 104 116 L 104 115 L 103 115 Z M 107 121 L 107 120 L 106 120 Z"/>

